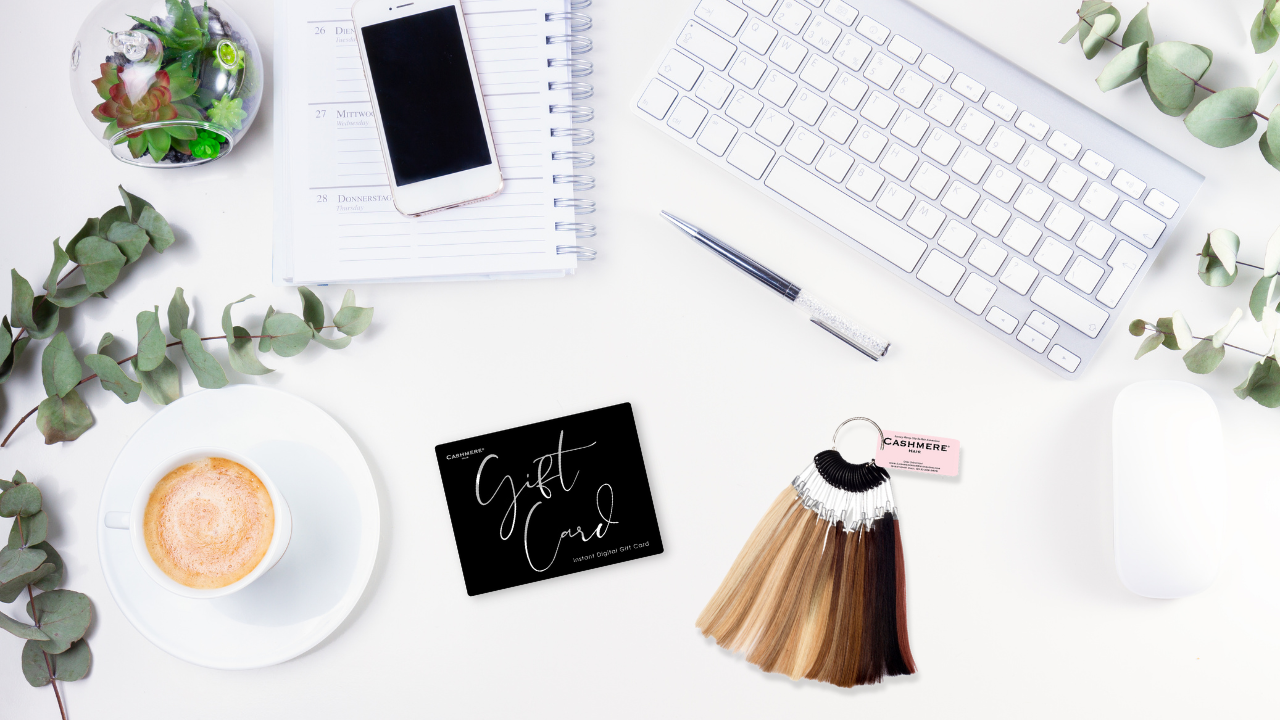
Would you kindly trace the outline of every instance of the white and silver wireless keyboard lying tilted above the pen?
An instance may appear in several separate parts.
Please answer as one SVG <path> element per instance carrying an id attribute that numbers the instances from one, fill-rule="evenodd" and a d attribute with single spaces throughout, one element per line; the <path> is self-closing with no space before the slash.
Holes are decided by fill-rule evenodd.
<path id="1" fill-rule="evenodd" d="M 700 0 L 635 111 L 1060 375 L 1203 177 L 902 0 Z"/>

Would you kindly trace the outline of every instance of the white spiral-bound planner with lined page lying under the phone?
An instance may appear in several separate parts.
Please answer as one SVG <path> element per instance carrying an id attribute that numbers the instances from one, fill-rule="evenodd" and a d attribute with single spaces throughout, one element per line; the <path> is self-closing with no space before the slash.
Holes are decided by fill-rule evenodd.
<path id="1" fill-rule="evenodd" d="M 421 218 L 390 199 L 351 0 L 275 3 L 276 284 L 562 277 L 594 250 L 580 197 L 590 0 L 465 0 L 503 191 Z"/>

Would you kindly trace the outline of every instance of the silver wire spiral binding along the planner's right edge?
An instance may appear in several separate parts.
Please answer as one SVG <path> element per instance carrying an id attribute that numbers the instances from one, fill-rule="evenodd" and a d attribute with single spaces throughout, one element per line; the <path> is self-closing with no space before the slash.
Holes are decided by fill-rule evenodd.
<path id="1" fill-rule="evenodd" d="M 553 92 L 566 91 L 575 102 L 590 99 L 595 95 L 595 87 L 581 78 L 590 77 L 595 67 L 590 60 L 580 59 L 591 51 L 591 38 L 582 33 L 591 29 L 591 15 L 582 10 L 591 6 L 591 0 L 570 0 L 568 13 L 547 13 L 545 20 L 549 23 L 563 23 L 568 31 L 564 35 L 548 35 L 547 45 L 567 45 L 572 58 L 553 58 L 547 60 L 548 68 L 564 68 L 568 72 L 568 81 L 548 82 L 547 88 Z M 548 108 L 553 115 L 567 115 L 570 123 L 577 126 L 595 119 L 595 109 L 590 105 L 561 105 L 554 104 Z M 581 127 L 552 128 L 552 137 L 568 138 L 575 147 L 590 145 L 595 141 L 595 131 Z M 595 154 L 581 150 L 557 150 L 552 152 L 552 160 L 568 161 L 575 170 L 590 168 L 595 164 Z M 584 174 L 557 174 L 552 176 L 554 184 L 566 184 L 575 192 L 585 192 L 595 187 L 595 178 Z M 595 213 L 595 201 L 582 197 L 557 197 L 557 208 L 572 208 L 575 215 L 590 215 Z M 595 225 L 591 223 L 556 223 L 557 231 L 572 232 L 579 241 L 595 237 Z M 559 255 L 573 255 L 579 260 L 594 260 L 595 250 L 584 245 L 558 245 L 556 252 Z"/>

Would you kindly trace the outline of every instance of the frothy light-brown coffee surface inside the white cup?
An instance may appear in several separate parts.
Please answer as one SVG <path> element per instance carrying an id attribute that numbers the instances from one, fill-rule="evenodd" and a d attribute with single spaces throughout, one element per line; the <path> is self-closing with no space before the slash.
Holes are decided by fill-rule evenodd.
<path id="1" fill-rule="evenodd" d="M 275 509 L 248 468 L 205 457 L 156 483 L 142 532 L 165 575 L 188 588 L 223 588 L 252 573 L 266 555 Z"/>

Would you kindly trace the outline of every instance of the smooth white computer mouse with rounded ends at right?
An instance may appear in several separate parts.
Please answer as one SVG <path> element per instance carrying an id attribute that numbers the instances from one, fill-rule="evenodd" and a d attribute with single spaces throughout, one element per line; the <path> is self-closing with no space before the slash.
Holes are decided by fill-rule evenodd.
<path id="1" fill-rule="evenodd" d="M 1120 580 L 1144 597 L 1207 588 L 1222 559 L 1222 424 L 1203 389 L 1134 383 L 1111 416 Z"/>

